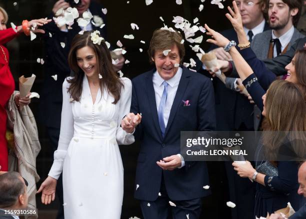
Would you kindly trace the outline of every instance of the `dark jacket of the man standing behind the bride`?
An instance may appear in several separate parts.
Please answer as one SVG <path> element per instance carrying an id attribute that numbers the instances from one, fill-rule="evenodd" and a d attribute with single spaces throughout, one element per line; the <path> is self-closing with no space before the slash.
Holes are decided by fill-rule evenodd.
<path id="1" fill-rule="evenodd" d="M 101 11 L 102 6 L 94 1 L 90 1 L 89 10 L 92 15 L 100 16 L 104 23 L 106 22 L 105 15 Z M 52 19 L 53 14 L 49 15 L 49 19 Z M 99 30 L 102 37 L 106 36 L 106 26 L 99 28 L 99 26 L 92 25 L 93 30 Z M 62 105 L 62 83 L 64 79 L 70 75 L 70 68 L 68 65 L 68 53 L 73 37 L 81 30 L 76 20 L 74 20 L 72 29 L 68 29 L 67 32 L 60 31 L 52 20 L 50 23 L 44 25 L 45 34 L 44 45 L 45 53 L 44 57 L 44 81 L 42 91 L 40 92 L 39 101 L 39 120 L 47 127 L 60 127 L 60 114 Z M 52 37 L 49 36 L 52 34 Z M 65 47 L 62 48 L 60 42 L 65 43 Z M 55 81 L 51 75 L 57 74 L 57 80 Z"/>

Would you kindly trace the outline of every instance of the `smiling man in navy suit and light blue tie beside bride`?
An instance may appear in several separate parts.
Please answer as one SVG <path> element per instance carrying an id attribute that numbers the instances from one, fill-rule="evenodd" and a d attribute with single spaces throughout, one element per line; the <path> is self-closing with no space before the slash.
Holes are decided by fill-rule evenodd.
<path id="1" fill-rule="evenodd" d="M 141 113 L 134 135 L 141 141 L 135 198 L 144 218 L 198 218 L 201 197 L 210 194 L 205 162 L 184 161 L 180 131 L 215 128 L 211 80 L 178 66 L 185 50 L 178 32 L 157 29 L 148 49 L 155 68 L 132 80 L 131 113 L 122 121 L 128 132 Z M 169 201 L 172 203 L 169 204 Z M 175 205 L 175 206 L 174 206 Z"/>

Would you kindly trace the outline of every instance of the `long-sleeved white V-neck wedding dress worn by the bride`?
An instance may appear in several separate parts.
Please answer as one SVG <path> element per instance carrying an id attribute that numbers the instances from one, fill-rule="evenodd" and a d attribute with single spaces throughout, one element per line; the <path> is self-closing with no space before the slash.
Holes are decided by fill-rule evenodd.
<path id="1" fill-rule="evenodd" d="M 63 82 L 60 135 L 49 176 L 62 171 L 64 216 L 67 219 L 120 218 L 123 199 L 123 166 L 118 144 L 134 142 L 120 127 L 129 112 L 131 81 L 124 84 L 120 99 L 100 89 L 93 103 L 84 76 L 80 101 L 67 93 Z"/>

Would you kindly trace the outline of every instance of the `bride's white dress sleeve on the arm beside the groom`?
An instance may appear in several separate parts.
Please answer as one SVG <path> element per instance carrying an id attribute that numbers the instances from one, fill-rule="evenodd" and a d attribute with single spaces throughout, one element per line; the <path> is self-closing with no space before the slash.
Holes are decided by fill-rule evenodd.
<path id="1" fill-rule="evenodd" d="M 124 84 L 124 87 L 121 88 L 119 100 L 119 117 L 117 120 L 116 140 L 118 144 L 131 144 L 135 141 L 134 135 L 124 131 L 120 124 L 124 115 L 129 113 L 130 110 L 132 85 L 130 79 L 126 77 L 122 77 L 121 81 Z"/>

